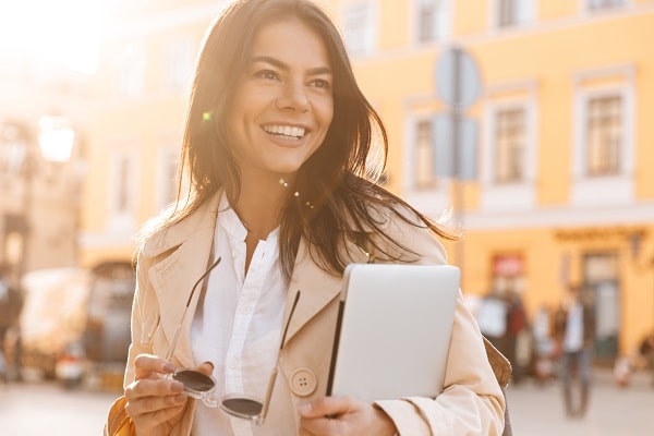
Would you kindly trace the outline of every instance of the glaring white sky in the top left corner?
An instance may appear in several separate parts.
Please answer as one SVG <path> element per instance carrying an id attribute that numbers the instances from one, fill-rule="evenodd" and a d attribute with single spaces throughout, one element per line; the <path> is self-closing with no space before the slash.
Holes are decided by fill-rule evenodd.
<path id="1" fill-rule="evenodd" d="M 0 57 L 26 55 L 92 73 L 102 0 L 0 0 Z"/>

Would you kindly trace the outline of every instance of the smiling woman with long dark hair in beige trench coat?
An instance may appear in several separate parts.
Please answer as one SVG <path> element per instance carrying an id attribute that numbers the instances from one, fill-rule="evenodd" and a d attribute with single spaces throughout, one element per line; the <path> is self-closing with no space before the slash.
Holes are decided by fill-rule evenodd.
<path id="1" fill-rule="evenodd" d="M 447 233 L 368 180 L 377 136 L 385 157 L 382 121 L 314 3 L 240 0 L 219 16 L 185 125 L 189 198 L 138 253 L 123 404 L 140 436 L 501 434 L 504 397 L 461 298 L 436 399 L 325 397 L 344 267 L 445 263 Z M 180 367 L 211 375 L 217 397 L 258 398 L 278 367 L 266 421 L 190 399 L 166 377 Z"/>

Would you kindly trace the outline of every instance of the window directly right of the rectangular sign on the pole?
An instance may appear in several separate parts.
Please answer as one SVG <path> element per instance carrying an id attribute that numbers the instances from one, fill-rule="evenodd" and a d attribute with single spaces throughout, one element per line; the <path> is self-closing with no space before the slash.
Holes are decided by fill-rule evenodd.
<path id="1" fill-rule="evenodd" d="M 525 111 L 523 108 L 500 109 L 495 118 L 495 182 L 521 182 L 525 166 Z"/>

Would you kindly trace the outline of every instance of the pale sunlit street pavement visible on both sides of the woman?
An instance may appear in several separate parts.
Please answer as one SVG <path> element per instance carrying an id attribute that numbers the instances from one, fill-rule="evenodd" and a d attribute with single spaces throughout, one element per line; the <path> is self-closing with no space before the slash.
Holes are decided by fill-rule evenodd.
<path id="1" fill-rule="evenodd" d="M 0 384 L 0 435 L 100 436 L 107 410 L 119 395 L 47 383 Z M 507 389 L 516 436 L 652 436 L 654 388 L 649 374 L 619 388 L 607 371 L 595 371 L 588 415 L 564 417 L 557 380 L 528 379 Z M 407 435 L 411 436 L 411 435 Z"/>

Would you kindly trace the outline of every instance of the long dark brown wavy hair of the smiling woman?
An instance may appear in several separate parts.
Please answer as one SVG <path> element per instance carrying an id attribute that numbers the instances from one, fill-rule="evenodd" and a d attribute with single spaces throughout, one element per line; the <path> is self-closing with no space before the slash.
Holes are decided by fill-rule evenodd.
<path id="1" fill-rule="evenodd" d="M 346 241 L 366 252 L 374 250 L 378 257 L 395 259 L 398 255 L 391 252 L 408 253 L 400 241 L 382 230 L 382 209 L 390 208 L 408 222 L 450 238 L 449 232 L 376 183 L 388 153 L 384 123 L 359 88 L 338 28 L 311 0 L 237 0 L 210 26 L 197 61 L 182 146 L 180 175 L 187 173 L 190 195 L 183 195 L 184 201 L 178 195 L 172 216 L 159 228 L 183 219 L 220 189 L 235 204 L 240 171 L 228 146 L 223 120 L 257 32 L 288 20 L 300 20 L 327 48 L 334 72 L 334 118 L 324 143 L 299 170 L 295 183 L 301 186 L 301 201 L 289 195 L 283 206 L 280 259 L 287 280 L 302 238 L 310 243 L 314 261 L 334 274 L 341 274 L 348 263 L 342 251 Z M 313 207 L 306 207 L 306 201 Z M 385 251 L 385 244 L 371 233 L 385 239 L 393 250 Z"/>

